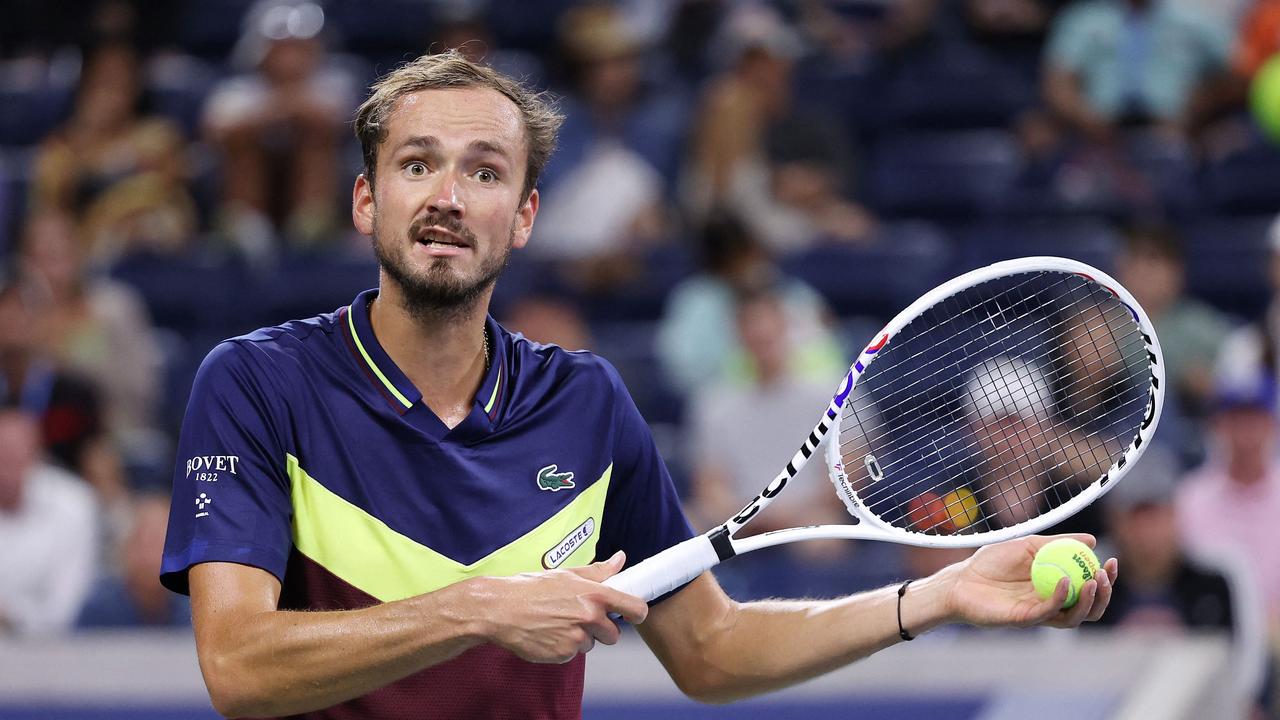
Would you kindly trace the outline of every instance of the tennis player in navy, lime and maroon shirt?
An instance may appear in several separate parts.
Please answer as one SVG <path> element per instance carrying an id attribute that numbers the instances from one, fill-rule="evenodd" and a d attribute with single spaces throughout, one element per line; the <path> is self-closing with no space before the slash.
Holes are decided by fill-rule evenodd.
<path id="1" fill-rule="evenodd" d="M 558 123 L 454 53 L 383 78 L 356 118 L 352 201 L 378 291 L 225 342 L 197 374 L 163 580 L 191 592 L 216 710 L 577 717 L 582 653 L 618 641 L 611 612 L 704 701 L 893 644 L 899 611 L 904 633 L 1102 614 L 1115 561 L 1062 612 L 1065 585 L 1042 601 L 1029 582 L 1043 538 L 904 597 L 737 605 L 707 574 L 650 611 L 603 585 L 691 530 L 617 374 L 485 314 Z"/>

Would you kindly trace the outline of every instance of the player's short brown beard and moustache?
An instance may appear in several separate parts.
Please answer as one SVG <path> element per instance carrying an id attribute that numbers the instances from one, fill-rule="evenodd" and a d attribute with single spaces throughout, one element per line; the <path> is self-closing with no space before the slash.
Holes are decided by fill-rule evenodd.
<path id="1" fill-rule="evenodd" d="M 439 227 L 465 238 L 474 251 L 477 251 L 475 234 L 452 215 L 431 214 L 410 225 L 408 238 L 416 242 L 421 231 Z M 511 247 L 516 236 L 515 222 L 504 246 L 480 261 L 480 268 L 471 277 L 460 275 L 451 265 L 449 258 L 433 258 L 425 269 L 412 268 L 406 255 L 404 245 L 388 247 L 379 238 L 378 218 L 374 218 L 372 246 L 378 265 L 396 284 L 404 297 L 406 309 L 417 319 L 440 316 L 468 316 L 484 293 L 493 287 L 511 261 Z"/>

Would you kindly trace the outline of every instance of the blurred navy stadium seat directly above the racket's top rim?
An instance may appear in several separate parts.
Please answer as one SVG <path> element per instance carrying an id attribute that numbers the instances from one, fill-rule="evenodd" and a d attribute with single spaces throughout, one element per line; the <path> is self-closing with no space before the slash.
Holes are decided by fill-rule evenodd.
<path id="1" fill-rule="evenodd" d="M 1088 263 L 1103 272 L 1115 264 L 1120 236 L 1101 218 L 1006 218 L 956 229 L 957 270 L 1028 255 L 1057 255 Z"/>

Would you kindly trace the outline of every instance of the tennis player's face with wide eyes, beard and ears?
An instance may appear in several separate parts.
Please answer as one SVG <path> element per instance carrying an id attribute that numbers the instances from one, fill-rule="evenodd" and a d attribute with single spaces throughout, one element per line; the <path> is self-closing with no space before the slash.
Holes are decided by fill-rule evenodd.
<path id="1" fill-rule="evenodd" d="M 468 307 L 524 247 L 538 192 L 521 202 L 527 143 L 515 104 L 489 88 L 399 100 L 376 188 L 356 181 L 353 220 L 413 311 Z"/>

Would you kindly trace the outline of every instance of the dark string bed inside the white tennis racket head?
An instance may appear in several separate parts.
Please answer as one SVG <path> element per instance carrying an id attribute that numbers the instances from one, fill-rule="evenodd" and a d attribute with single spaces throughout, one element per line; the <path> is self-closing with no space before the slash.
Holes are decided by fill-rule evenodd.
<path id="1" fill-rule="evenodd" d="M 1125 402 L 1125 393 L 1140 391 L 1144 400 L 1147 379 L 1135 360 L 1146 347 L 1132 311 L 1085 278 L 1019 278 L 954 295 L 900 331 L 859 383 L 872 387 L 864 395 L 874 397 L 870 407 L 884 421 L 864 423 L 869 413 L 852 402 L 842 410 L 845 428 L 858 430 L 841 438 L 846 471 L 859 473 L 858 462 L 850 464 L 854 451 L 870 454 L 886 441 L 915 454 L 879 461 L 881 477 L 895 477 L 867 495 L 867 478 L 855 483 L 864 506 L 882 520 L 925 533 L 1029 520 L 1096 480 L 1123 450 L 1119 441 L 1137 430 L 1146 402 Z M 925 327 L 911 336 L 906 331 L 918 322 Z M 1065 342 L 1055 347 L 1046 338 Z M 1047 351 L 1028 357 L 1044 345 Z M 1135 350 L 1125 352 L 1128 345 Z M 874 387 L 882 378 L 884 387 Z M 925 383 L 942 391 L 916 389 Z M 948 402 L 960 383 L 959 401 Z M 1002 418 L 974 423 L 993 415 Z M 927 489 L 910 491 L 929 478 Z"/>

